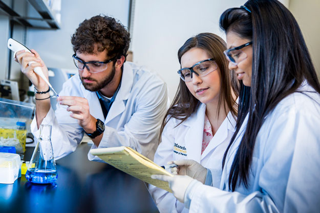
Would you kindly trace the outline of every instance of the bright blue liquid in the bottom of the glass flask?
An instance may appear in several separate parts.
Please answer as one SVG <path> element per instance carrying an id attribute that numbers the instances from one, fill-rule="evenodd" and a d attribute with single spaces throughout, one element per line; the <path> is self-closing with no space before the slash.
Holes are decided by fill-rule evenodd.
<path id="1" fill-rule="evenodd" d="M 58 173 L 56 170 L 49 169 L 28 169 L 26 172 L 26 179 L 33 183 L 52 183 L 58 178 Z"/>

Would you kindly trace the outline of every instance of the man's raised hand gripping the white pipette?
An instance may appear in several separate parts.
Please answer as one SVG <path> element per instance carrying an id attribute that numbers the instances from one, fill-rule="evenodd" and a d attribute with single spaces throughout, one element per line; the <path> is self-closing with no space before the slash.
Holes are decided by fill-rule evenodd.
<path id="1" fill-rule="evenodd" d="M 38 91 L 47 91 L 48 85 L 47 83 L 38 76 L 33 69 L 37 66 L 41 67 L 42 72 L 48 78 L 48 68 L 46 67 L 45 63 L 41 60 L 39 54 L 35 50 L 31 50 L 32 53 L 26 52 L 25 50 L 18 51 L 15 54 L 14 60 L 20 64 L 20 69 L 25 74 L 25 76 L 32 82 L 35 88 Z M 30 61 L 34 61 L 29 65 Z"/>

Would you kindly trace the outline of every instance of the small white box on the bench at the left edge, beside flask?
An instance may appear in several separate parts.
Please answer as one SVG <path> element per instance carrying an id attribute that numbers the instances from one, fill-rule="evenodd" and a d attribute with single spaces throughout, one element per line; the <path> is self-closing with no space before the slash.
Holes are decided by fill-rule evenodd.
<path id="1" fill-rule="evenodd" d="M 0 152 L 0 183 L 12 184 L 21 177 L 21 161 L 18 154 Z"/>

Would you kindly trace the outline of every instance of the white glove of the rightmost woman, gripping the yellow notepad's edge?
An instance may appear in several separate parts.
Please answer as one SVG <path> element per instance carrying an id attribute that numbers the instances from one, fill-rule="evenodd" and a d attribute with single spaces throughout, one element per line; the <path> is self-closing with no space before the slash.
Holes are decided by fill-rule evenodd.
<path id="1" fill-rule="evenodd" d="M 178 176 L 175 175 L 173 177 L 167 176 L 167 175 L 152 175 L 151 178 L 163 180 L 169 183 L 169 187 L 171 188 L 174 196 L 181 202 L 184 203 L 184 194 L 187 190 L 188 185 L 191 181 L 193 181 L 193 178 L 190 178 L 189 176 Z"/>

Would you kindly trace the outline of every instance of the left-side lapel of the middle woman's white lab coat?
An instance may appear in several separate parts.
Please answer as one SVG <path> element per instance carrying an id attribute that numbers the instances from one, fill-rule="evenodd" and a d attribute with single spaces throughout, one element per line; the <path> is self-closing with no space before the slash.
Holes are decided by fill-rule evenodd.
<path id="1" fill-rule="evenodd" d="M 185 126 L 189 126 L 189 131 L 185 135 L 185 145 L 187 149 L 187 158 L 193 159 L 200 163 L 202 137 L 204 127 L 205 104 L 201 104 L 197 113 L 192 114 L 184 122 Z"/>

